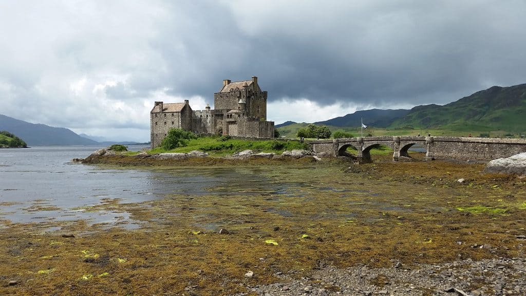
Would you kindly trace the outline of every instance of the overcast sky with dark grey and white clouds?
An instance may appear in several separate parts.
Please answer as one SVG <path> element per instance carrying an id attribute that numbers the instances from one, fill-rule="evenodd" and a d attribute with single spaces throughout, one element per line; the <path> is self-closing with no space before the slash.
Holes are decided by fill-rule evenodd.
<path id="1" fill-rule="evenodd" d="M 258 76 L 268 120 L 526 83 L 526 1 L 1 1 L 0 114 L 149 141 L 154 101 Z M 366 122 L 366 119 L 364 119 Z"/>

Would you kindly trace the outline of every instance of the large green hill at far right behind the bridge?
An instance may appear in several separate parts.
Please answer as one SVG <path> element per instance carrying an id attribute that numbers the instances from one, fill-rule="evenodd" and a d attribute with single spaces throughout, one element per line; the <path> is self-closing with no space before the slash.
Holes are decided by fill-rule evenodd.
<path id="1" fill-rule="evenodd" d="M 526 84 L 492 86 L 443 106 L 416 106 L 389 127 L 525 132 Z"/>

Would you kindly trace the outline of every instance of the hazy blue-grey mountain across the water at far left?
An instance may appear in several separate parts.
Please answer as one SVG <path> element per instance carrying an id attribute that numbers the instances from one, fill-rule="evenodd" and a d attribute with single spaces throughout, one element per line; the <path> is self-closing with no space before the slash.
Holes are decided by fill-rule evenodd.
<path id="1" fill-rule="evenodd" d="M 53 127 L 17 120 L 0 114 L 0 131 L 16 134 L 29 146 L 38 145 L 99 145 L 64 127 Z"/>

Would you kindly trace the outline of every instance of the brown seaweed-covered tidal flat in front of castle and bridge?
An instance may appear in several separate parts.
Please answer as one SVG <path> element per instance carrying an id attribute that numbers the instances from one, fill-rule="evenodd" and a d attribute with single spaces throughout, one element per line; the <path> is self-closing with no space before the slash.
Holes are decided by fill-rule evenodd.
<path id="1" fill-rule="evenodd" d="M 175 186 L 162 198 L 79 207 L 128 214 L 117 221 L 2 221 L 0 294 L 256 294 L 250 287 L 283 274 L 310 278 L 327 266 L 524 258 L 526 180 L 484 174 L 483 164 L 380 158 L 359 166 L 163 167 L 211 181 Z"/>

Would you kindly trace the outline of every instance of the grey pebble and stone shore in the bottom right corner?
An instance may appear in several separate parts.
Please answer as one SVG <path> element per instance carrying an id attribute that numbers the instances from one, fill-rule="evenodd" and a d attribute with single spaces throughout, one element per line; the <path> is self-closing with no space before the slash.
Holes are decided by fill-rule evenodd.
<path id="1" fill-rule="evenodd" d="M 523 239 L 518 241 L 524 242 Z M 295 279 L 294 275 L 295 272 L 276 274 L 281 279 L 279 283 L 247 288 L 262 296 L 526 294 L 524 258 L 466 259 L 414 268 L 405 267 L 400 262 L 393 262 L 391 268 L 321 267 L 310 277 Z M 256 276 L 257 271 L 254 271 L 252 277 Z"/>

